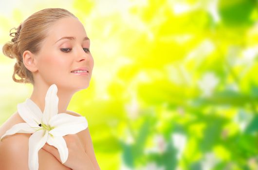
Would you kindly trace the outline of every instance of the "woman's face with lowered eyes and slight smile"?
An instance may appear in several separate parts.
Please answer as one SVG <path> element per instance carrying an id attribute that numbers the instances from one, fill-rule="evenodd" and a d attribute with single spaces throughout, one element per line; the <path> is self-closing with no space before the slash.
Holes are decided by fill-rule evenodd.
<path id="1" fill-rule="evenodd" d="M 77 18 L 56 21 L 40 47 L 35 82 L 39 78 L 48 85 L 55 83 L 76 91 L 89 86 L 94 61 L 89 51 L 90 40 Z M 72 72 L 74 70 L 80 71 Z"/>

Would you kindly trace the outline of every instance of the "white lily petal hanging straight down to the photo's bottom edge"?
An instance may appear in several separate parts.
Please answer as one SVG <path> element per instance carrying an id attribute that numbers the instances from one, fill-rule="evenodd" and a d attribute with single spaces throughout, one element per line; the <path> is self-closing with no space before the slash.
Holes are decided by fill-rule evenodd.
<path id="1" fill-rule="evenodd" d="M 29 169 L 38 170 L 38 151 L 48 139 L 48 131 L 39 130 L 29 138 Z"/>

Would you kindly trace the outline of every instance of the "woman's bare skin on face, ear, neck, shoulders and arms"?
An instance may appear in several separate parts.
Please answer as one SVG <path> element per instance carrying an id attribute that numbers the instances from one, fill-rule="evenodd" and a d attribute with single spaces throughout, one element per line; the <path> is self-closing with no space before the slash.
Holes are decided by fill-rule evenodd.
<path id="1" fill-rule="evenodd" d="M 47 31 L 37 54 L 23 52 L 23 63 L 33 73 L 35 80 L 30 99 L 43 112 L 46 92 L 55 83 L 58 88 L 58 113 L 81 116 L 68 111 L 67 106 L 76 91 L 89 86 L 94 65 L 89 51 L 90 40 L 86 38 L 81 22 L 74 17 L 59 19 Z M 67 36 L 73 38 L 59 40 Z M 79 67 L 88 68 L 89 75 L 75 75 L 71 72 Z M 0 136 L 21 122 L 24 120 L 16 112 L 0 127 Z M 0 142 L 0 170 L 28 169 L 30 136 L 31 134 L 20 133 L 3 138 Z M 69 150 L 67 161 L 62 164 L 57 149 L 45 144 L 38 152 L 39 170 L 100 170 L 89 128 L 74 135 L 66 135 L 64 139 Z"/>

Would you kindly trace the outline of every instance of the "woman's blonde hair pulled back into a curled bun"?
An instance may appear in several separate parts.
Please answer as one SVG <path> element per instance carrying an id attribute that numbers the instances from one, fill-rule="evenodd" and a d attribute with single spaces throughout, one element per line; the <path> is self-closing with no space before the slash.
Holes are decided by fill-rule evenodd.
<path id="1" fill-rule="evenodd" d="M 4 55 L 14 59 L 13 80 L 17 83 L 31 83 L 34 85 L 32 72 L 28 70 L 22 59 L 24 51 L 28 50 L 34 54 L 40 50 L 42 40 L 47 36 L 48 28 L 58 19 L 64 17 L 75 17 L 71 12 L 62 8 L 46 8 L 40 10 L 25 19 L 17 28 L 10 30 L 12 40 L 4 44 L 2 52 Z M 77 18 L 77 17 L 75 17 Z M 12 30 L 15 29 L 15 32 Z M 16 79 L 15 75 L 21 79 Z"/>

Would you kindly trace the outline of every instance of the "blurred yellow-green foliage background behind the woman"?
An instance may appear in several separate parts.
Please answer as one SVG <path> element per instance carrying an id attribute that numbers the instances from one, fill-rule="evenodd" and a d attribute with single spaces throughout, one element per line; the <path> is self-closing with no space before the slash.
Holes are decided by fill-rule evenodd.
<path id="1" fill-rule="evenodd" d="M 0 46 L 43 8 L 84 24 L 89 121 L 102 170 L 258 170 L 257 0 L 1 0 Z M 32 92 L 0 53 L 0 124 Z"/>

